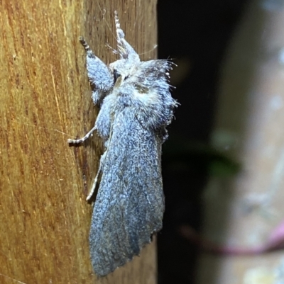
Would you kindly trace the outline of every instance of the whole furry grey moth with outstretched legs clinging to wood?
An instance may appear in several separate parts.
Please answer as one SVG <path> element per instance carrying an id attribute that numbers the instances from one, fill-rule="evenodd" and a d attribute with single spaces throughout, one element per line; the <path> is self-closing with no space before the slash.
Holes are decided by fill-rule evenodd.
<path id="1" fill-rule="evenodd" d="M 107 66 L 80 38 L 87 52 L 89 81 L 96 86 L 94 104 L 100 106 L 94 130 L 104 140 L 105 151 L 87 200 L 101 182 L 94 204 L 89 249 L 97 276 L 124 266 L 162 228 L 164 212 L 161 146 L 165 129 L 178 103 L 168 84 L 168 60 L 142 62 L 124 39 L 115 13 L 120 59 Z"/>

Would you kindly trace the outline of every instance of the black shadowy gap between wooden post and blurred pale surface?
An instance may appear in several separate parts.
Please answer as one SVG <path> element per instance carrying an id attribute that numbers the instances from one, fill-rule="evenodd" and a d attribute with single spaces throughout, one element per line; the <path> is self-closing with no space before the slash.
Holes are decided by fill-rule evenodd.
<path id="1" fill-rule="evenodd" d="M 158 283 L 195 283 L 198 248 L 179 232 L 202 226 L 201 194 L 214 161 L 230 164 L 209 146 L 219 71 L 246 0 L 158 1 L 158 57 L 179 64 L 172 74 L 180 106 L 163 147 L 165 216 L 158 234 Z"/>

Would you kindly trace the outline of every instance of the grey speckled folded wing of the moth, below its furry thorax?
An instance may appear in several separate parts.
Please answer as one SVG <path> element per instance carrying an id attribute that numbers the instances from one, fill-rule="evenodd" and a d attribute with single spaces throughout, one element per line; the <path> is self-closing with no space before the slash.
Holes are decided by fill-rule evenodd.
<path id="1" fill-rule="evenodd" d="M 129 108 L 114 120 L 89 234 L 98 276 L 138 255 L 162 227 L 161 143 Z"/>

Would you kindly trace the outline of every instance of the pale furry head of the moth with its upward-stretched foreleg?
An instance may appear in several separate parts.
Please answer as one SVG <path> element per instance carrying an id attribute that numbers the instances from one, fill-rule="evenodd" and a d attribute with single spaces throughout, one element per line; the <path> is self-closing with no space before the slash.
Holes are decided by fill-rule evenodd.
<path id="1" fill-rule="evenodd" d="M 147 101 L 146 97 L 159 96 L 160 92 L 168 91 L 168 60 L 149 60 L 141 62 L 137 52 L 125 40 L 124 31 L 119 24 L 115 12 L 117 49 L 120 59 L 109 64 L 114 76 L 114 89 L 118 93 L 140 101 Z"/>

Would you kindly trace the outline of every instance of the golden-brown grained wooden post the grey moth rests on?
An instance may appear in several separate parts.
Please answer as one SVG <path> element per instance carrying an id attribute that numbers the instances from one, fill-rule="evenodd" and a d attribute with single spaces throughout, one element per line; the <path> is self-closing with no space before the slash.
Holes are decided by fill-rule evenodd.
<path id="1" fill-rule="evenodd" d="M 155 283 L 155 244 L 97 280 L 89 261 L 97 172 L 96 135 L 80 147 L 96 109 L 83 35 L 105 62 L 116 59 L 114 10 L 143 59 L 155 57 L 155 0 L 0 3 L 0 283 Z"/>

